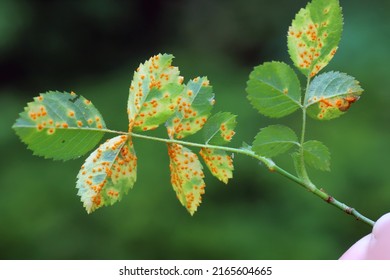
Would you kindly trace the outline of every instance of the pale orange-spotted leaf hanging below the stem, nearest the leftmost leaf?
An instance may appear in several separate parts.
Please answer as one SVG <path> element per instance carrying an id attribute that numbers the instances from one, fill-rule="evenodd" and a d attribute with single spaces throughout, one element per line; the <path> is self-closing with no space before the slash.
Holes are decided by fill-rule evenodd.
<path id="1" fill-rule="evenodd" d="M 126 135 L 101 144 L 77 175 L 78 195 L 88 213 L 120 201 L 137 179 L 137 157 Z"/>

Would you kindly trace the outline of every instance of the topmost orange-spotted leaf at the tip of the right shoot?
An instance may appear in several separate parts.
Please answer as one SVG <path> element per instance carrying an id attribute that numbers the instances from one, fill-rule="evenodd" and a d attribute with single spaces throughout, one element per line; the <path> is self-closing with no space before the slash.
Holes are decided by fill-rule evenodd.
<path id="1" fill-rule="evenodd" d="M 338 0 L 313 0 L 301 9 L 288 30 L 288 52 L 306 76 L 315 76 L 333 58 L 343 17 Z"/>

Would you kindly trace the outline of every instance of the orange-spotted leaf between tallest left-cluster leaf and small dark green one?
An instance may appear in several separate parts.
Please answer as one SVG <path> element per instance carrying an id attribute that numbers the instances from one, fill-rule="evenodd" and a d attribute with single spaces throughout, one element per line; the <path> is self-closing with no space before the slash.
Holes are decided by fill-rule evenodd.
<path id="1" fill-rule="evenodd" d="M 167 129 L 170 138 L 182 139 L 204 126 L 215 103 L 207 78 L 189 81 L 177 102 L 175 114 L 167 121 Z"/>

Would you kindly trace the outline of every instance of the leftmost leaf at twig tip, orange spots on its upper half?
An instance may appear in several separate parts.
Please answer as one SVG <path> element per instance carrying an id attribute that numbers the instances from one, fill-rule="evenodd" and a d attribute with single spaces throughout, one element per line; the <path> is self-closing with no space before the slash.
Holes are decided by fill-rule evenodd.
<path id="1" fill-rule="evenodd" d="M 90 151 L 104 135 L 103 117 L 75 93 L 49 91 L 34 98 L 13 129 L 35 155 L 68 160 Z"/>

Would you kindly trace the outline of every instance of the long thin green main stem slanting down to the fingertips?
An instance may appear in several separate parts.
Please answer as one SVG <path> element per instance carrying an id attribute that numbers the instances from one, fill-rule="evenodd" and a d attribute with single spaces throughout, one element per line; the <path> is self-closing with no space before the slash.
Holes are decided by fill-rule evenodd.
<path id="1" fill-rule="evenodd" d="M 123 134 L 123 132 L 117 132 Z M 197 148 L 209 148 L 209 149 L 219 149 L 219 150 L 224 150 L 226 152 L 232 152 L 232 153 L 237 153 L 237 154 L 242 154 L 246 155 L 252 158 L 257 159 L 258 161 L 264 163 L 267 168 L 272 171 L 272 172 L 277 172 L 280 175 L 286 177 L 287 179 L 297 183 L 298 185 L 304 187 L 305 189 L 309 190 L 316 196 L 320 197 L 323 199 L 325 202 L 335 206 L 336 208 L 342 210 L 343 212 L 354 216 L 357 220 L 364 222 L 365 224 L 369 226 L 374 225 L 374 221 L 370 220 L 369 218 L 363 216 L 360 214 L 358 211 L 356 211 L 354 208 L 347 206 L 346 204 L 336 200 L 334 197 L 328 195 L 326 192 L 324 192 L 321 189 L 318 189 L 313 183 L 310 182 L 310 180 L 306 180 L 304 178 L 298 178 L 294 176 L 293 174 L 289 173 L 288 171 L 284 170 L 283 168 L 279 167 L 276 165 L 271 159 L 259 156 L 255 154 L 252 150 L 250 149 L 245 149 L 245 148 L 231 148 L 231 147 L 224 147 L 224 146 L 214 146 L 214 145 L 208 145 L 208 144 L 199 144 L 199 143 L 192 143 L 192 142 L 186 142 L 186 141 L 181 141 L 181 140 L 175 140 L 175 139 L 165 139 L 165 138 L 159 138 L 159 137 L 154 137 L 154 136 L 148 136 L 148 135 L 143 135 L 143 134 L 137 134 L 137 133 L 129 133 L 129 135 L 135 137 L 135 138 L 142 138 L 142 139 L 148 139 L 152 141 L 158 141 L 158 142 L 163 142 L 167 144 L 180 144 L 184 146 L 191 146 L 191 147 L 197 147 Z"/>

